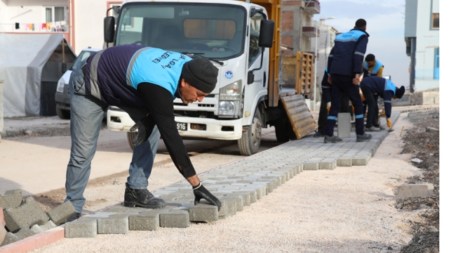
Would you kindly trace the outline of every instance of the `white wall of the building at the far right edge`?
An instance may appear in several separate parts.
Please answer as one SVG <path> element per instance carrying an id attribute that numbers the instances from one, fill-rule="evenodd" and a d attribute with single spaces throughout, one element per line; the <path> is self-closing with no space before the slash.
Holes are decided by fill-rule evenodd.
<path id="1" fill-rule="evenodd" d="M 439 86 L 434 79 L 435 48 L 439 47 L 439 30 L 431 30 L 431 14 L 439 11 L 438 1 L 420 0 L 417 6 L 415 90 L 423 91 Z M 437 6 L 435 6 L 437 5 Z M 432 11 L 433 9 L 433 11 Z"/>

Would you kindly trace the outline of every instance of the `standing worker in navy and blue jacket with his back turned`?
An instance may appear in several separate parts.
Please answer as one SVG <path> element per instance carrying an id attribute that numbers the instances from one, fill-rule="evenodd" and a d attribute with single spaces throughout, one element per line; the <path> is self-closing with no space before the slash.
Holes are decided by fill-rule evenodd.
<path id="1" fill-rule="evenodd" d="M 356 118 L 357 141 L 369 141 L 370 134 L 365 133 L 363 120 L 363 103 L 359 93 L 358 84 L 362 73 L 362 62 L 368 44 L 366 21 L 356 21 L 354 29 L 335 37 L 335 45 L 328 57 L 328 82 L 332 84 L 332 107 L 330 108 L 324 143 L 336 143 L 342 141 L 334 136 L 334 126 L 337 122 L 337 114 L 340 111 L 342 96 L 347 93 L 354 106 Z"/>

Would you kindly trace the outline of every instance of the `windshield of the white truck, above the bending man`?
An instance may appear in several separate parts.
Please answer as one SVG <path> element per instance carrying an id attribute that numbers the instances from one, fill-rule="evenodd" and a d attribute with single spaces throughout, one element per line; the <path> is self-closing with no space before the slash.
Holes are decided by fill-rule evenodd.
<path id="1" fill-rule="evenodd" d="M 122 6 L 116 30 L 116 45 L 229 59 L 243 53 L 246 11 L 230 4 L 130 3 Z"/>

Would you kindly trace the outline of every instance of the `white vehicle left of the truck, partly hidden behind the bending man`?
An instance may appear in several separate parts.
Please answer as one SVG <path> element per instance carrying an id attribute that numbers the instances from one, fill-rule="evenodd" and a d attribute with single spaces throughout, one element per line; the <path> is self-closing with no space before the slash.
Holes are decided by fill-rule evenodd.
<path id="1" fill-rule="evenodd" d="M 72 67 L 69 68 L 58 81 L 55 92 L 56 113 L 61 119 L 70 119 L 70 94 L 69 94 L 69 79 L 72 70 L 81 63 L 84 59 L 91 56 L 93 53 L 100 51 L 98 48 L 84 48 L 79 56 L 76 57 Z"/>

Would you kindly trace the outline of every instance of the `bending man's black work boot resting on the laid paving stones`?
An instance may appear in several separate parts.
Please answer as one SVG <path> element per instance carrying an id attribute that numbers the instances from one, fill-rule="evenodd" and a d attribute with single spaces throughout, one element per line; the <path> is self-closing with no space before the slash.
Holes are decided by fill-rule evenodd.
<path id="1" fill-rule="evenodd" d="M 147 189 L 131 189 L 126 183 L 125 190 L 125 207 L 143 207 L 143 208 L 163 208 L 166 202 L 154 197 Z"/>

